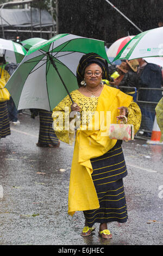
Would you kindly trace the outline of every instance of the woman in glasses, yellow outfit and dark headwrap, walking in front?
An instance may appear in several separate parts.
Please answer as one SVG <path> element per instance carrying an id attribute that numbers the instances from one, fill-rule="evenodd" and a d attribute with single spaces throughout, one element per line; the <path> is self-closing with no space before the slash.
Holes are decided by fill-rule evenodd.
<path id="1" fill-rule="evenodd" d="M 112 237 L 107 227 L 108 222 L 127 221 L 122 180 L 127 175 L 127 168 L 121 148 L 122 141 L 110 139 L 108 136 L 108 113 L 111 123 L 116 123 L 117 118 L 121 119 L 120 115 L 126 115 L 128 123 L 134 125 L 135 133 L 141 123 L 141 111 L 133 102 L 133 97 L 101 83 L 102 79 L 108 77 L 106 60 L 95 53 L 85 54 L 77 68 L 79 89 L 71 93 L 75 103 L 72 104 L 67 95 L 53 109 L 52 115 L 55 133 L 61 141 L 71 144 L 76 133 L 68 214 L 72 216 L 76 211 L 83 211 L 85 227 L 81 235 L 90 235 L 95 229 L 93 224 L 100 223 L 99 236 L 104 239 Z M 71 129 L 67 129 L 67 124 L 66 129 L 61 125 L 65 107 L 69 109 L 68 114 L 80 112 L 81 119 L 78 119 L 79 126 L 76 131 L 71 125 Z M 85 113 L 89 113 L 87 118 Z M 65 114 L 65 123 L 66 120 Z"/>

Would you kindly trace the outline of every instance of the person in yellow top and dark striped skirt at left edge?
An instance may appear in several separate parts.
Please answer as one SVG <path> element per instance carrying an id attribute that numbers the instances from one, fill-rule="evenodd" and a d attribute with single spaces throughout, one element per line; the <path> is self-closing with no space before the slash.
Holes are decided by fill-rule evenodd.
<path id="1" fill-rule="evenodd" d="M 2 88 L 5 86 L 10 78 L 9 73 L 3 70 L 3 64 L 5 64 L 4 56 L 0 57 L 0 83 L 2 83 Z M 5 138 L 10 135 L 10 123 L 9 123 L 9 113 L 7 107 L 7 101 L 1 101 L 0 99 L 0 139 Z"/>

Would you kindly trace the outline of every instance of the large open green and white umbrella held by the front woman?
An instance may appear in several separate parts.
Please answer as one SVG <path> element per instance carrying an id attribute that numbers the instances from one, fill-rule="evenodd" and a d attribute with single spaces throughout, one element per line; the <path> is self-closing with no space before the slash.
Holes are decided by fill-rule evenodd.
<path id="1" fill-rule="evenodd" d="M 67 93 L 78 88 L 77 66 L 90 52 L 109 63 L 104 41 L 82 36 L 59 34 L 31 47 L 6 84 L 17 109 L 52 111 Z"/>

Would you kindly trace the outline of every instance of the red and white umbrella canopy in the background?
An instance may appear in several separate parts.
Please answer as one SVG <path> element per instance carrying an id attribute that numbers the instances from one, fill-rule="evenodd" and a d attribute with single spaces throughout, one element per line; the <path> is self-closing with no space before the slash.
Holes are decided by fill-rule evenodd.
<path id="1" fill-rule="evenodd" d="M 129 42 L 135 35 L 125 36 L 124 38 L 120 38 L 116 40 L 106 52 L 109 60 L 111 58 L 115 58 L 117 54 L 122 50 L 122 48 Z"/>

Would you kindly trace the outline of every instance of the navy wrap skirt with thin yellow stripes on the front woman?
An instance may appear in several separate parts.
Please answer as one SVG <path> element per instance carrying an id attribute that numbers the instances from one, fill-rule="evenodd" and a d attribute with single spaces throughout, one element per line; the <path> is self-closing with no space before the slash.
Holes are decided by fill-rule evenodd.
<path id="1" fill-rule="evenodd" d="M 84 211 L 89 227 L 94 223 L 127 221 L 126 198 L 122 178 L 127 175 L 126 163 L 120 141 L 103 156 L 91 159 L 92 180 L 95 185 L 99 208 Z"/>

